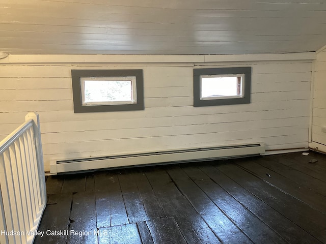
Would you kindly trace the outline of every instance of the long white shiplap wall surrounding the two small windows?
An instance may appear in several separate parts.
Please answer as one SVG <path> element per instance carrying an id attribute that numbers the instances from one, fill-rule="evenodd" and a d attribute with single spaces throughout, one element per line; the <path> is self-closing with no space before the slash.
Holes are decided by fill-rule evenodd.
<path id="1" fill-rule="evenodd" d="M 312 60 L 247 57 L 251 61 L 219 62 L 228 59 L 222 55 L 210 57 L 210 63 L 186 63 L 178 56 L 168 58 L 176 63 L 130 63 L 128 56 L 120 63 L 87 63 L 92 59 L 87 55 L 79 58 L 83 63 L 58 62 L 52 55 L 43 63 L 29 55 L 12 57 L 15 62 L 0 64 L 0 139 L 26 112 L 38 112 L 46 170 L 52 159 L 187 147 L 248 142 L 264 142 L 268 150 L 308 147 Z M 193 107 L 193 69 L 232 66 L 252 67 L 251 104 Z M 74 114 L 71 69 L 143 69 L 145 110 Z"/>

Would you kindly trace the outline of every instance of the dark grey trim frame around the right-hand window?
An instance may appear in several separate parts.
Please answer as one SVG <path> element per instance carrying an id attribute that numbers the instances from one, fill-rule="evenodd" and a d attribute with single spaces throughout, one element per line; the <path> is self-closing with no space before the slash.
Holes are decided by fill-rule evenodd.
<path id="1" fill-rule="evenodd" d="M 194 107 L 246 104 L 251 101 L 251 67 L 231 67 L 231 68 L 208 68 L 194 69 Z M 201 75 L 231 75 L 244 74 L 244 97 L 228 99 L 200 99 L 200 76 Z"/>

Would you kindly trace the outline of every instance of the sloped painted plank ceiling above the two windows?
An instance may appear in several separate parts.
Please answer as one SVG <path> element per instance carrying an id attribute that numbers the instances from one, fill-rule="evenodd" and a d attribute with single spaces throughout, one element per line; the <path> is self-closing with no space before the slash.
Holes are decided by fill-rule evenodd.
<path id="1" fill-rule="evenodd" d="M 246 54 L 326 45 L 324 0 L 0 0 L 0 52 Z"/>

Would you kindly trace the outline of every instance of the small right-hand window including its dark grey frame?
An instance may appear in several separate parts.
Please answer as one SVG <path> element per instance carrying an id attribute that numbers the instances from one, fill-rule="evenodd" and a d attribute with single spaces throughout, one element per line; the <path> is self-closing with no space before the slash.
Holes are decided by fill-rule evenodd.
<path id="1" fill-rule="evenodd" d="M 194 69 L 194 106 L 250 103 L 251 67 Z"/>

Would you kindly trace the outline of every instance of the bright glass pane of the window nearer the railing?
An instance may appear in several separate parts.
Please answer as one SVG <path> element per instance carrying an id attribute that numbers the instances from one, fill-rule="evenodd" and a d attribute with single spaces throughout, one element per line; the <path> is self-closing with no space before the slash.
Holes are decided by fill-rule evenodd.
<path id="1" fill-rule="evenodd" d="M 85 103 L 132 101 L 131 80 L 85 80 Z"/>

